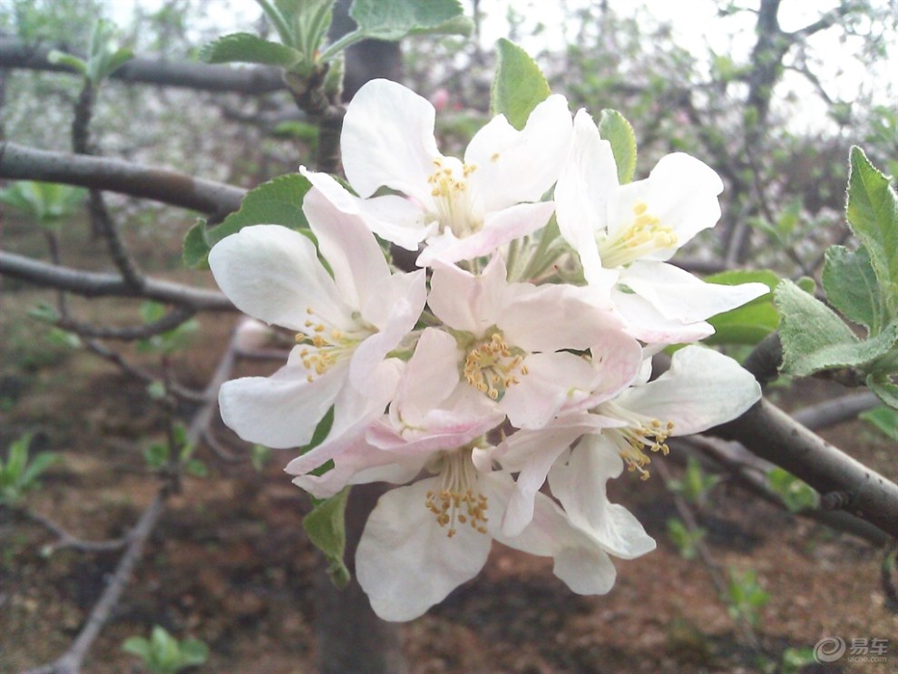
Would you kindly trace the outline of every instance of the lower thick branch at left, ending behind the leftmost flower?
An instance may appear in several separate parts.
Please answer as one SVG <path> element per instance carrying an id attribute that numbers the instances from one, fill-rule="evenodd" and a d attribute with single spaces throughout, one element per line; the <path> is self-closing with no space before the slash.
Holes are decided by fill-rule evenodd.
<path id="1" fill-rule="evenodd" d="M 146 278 L 143 288 L 133 288 L 117 274 L 56 267 L 23 255 L 0 250 L 0 274 L 48 288 L 68 290 L 87 298 L 126 297 L 155 299 L 196 311 L 236 311 L 217 290 L 183 286 L 158 278 Z"/>

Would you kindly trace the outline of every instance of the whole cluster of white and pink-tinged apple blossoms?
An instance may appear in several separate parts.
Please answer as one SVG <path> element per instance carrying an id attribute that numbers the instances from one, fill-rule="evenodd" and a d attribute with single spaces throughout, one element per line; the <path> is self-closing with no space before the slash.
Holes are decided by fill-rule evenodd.
<path id="1" fill-rule="evenodd" d="M 323 442 L 287 466 L 317 498 L 386 482 L 356 553 L 376 613 L 411 620 L 473 578 L 493 540 L 553 558 L 572 591 L 601 594 L 613 557 L 655 542 L 606 483 L 649 476 L 666 441 L 741 414 L 755 379 L 705 347 L 708 317 L 766 293 L 670 265 L 720 216 L 723 185 L 670 154 L 619 184 L 588 112 L 551 95 L 522 130 L 499 115 L 464 159 L 440 153 L 434 107 L 376 80 L 349 104 L 343 163 L 303 204 L 310 234 L 247 227 L 210 267 L 234 304 L 296 334 L 274 375 L 221 388 L 249 442 Z M 551 195 L 551 196 L 550 196 Z M 413 251 L 391 266 L 380 241 Z"/>

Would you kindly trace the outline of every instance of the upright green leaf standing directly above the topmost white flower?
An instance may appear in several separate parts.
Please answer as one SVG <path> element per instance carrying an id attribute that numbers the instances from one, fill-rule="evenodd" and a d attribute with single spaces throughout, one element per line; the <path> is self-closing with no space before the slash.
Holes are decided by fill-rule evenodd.
<path id="1" fill-rule="evenodd" d="M 517 44 L 502 38 L 496 50 L 498 60 L 490 91 L 490 112 L 504 114 L 520 131 L 533 108 L 549 97 L 549 83 L 530 54 Z"/>

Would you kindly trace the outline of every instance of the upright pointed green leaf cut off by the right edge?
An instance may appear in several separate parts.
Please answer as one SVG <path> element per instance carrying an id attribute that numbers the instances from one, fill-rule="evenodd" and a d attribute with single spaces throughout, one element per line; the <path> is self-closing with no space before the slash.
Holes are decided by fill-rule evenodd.
<path id="1" fill-rule="evenodd" d="M 898 316 L 898 197 L 889 179 L 853 147 L 848 175 L 848 224 L 870 253 L 887 306 Z"/>

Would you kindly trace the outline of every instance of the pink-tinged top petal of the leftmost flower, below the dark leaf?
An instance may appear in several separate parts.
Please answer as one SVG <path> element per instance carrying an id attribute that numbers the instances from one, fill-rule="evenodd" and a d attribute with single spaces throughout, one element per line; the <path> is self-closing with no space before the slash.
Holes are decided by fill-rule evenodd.
<path id="1" fill-rule="evenodd" d="M 390 277 L 384 252 L 364 220 L 350 215 L 315 188 L 302 203 L 318 250 L 334 272 L 334 281 L 350 307 L 363 307 L 369 293 Z"/>

